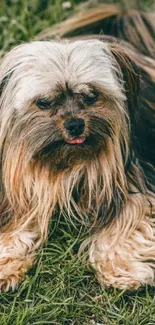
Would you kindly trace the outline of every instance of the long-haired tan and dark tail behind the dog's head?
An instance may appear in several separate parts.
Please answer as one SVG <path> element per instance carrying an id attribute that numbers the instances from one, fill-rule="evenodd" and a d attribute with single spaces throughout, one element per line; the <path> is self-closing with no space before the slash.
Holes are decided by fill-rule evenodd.
<path id="1" fill-rule="evenodd" d="M 89 34 L 114 36 L 127 41 L 141 54 L 155 58 L 155 13 L 125 9 L 118 4 L 100 4 L 90 9 L 85 5 L 84 10 L 48 28 L 37 39 Z"/>

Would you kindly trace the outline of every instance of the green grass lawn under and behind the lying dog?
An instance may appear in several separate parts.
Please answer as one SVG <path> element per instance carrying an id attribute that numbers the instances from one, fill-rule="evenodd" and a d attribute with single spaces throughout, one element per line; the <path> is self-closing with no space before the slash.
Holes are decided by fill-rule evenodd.
<path id="1" fill-rule="evenodd" d="M 0 0 L 0 54 L 33 39 L 72 13 L 62 0 Z M 116 1 L 115 1 L 116 2 Z M 148 8 L 153 1 L 142 1 Z M 136 293 L 101 288 L 77 258 L 80 225 L 51 221 L 47 245 L 16 292 L 0 295 L 0 325 L 155 325 L 153 288 Z"/>

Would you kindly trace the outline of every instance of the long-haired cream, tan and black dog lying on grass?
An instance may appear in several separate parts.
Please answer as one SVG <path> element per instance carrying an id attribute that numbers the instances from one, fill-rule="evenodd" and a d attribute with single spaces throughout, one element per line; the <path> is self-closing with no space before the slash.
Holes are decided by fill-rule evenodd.
<path id="1" fill-rule="evenodd" d="M 143 29 L 135 24 L 139 38 L 129 44 L 137 16 L 107 8 L 99 21 L 93 11 L 93 24 L 125 41 L 34 41 L 1 63 L 1 290 L 14 289 L 35 263 L 57 210 L 89 220 L 81 249 L 100 283 L 131 290 L 154 284 L 153 25 L 137 14 Z"/>

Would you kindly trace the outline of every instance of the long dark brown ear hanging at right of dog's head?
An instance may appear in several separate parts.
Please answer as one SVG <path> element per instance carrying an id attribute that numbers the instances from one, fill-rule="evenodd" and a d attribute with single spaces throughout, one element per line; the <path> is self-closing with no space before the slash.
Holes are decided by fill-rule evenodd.
<path id="1" fill-rule="evenodd" d="M 113 43 L 109 44 L 111 53 L 115 60 L 116 74 L 118 79 L 123 82 L 123 88 L 126 96 L 126 110 L 129 117 L 130 125 L 130 144 L 133 152 L 141 155 L 142 141 L 141 130 L 142 125 L 142 80 L 140 75 L 140 68 L 131 59 L 126 49 L 121 45 Z M 143 132 L 142 132 L 143 133 Z M 131 158 L 131 157 L 130 157 Z"/>

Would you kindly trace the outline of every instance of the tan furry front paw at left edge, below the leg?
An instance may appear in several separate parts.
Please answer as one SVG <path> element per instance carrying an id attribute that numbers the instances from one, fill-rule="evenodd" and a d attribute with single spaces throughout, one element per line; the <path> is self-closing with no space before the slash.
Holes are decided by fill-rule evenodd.
<path id="1" fill-rule="evenodd" d="M 5 258 L 0 260 L 0 292 L 15 290 L 25 273 L 34 264 L 34 256 L 21 259 Z"/>

